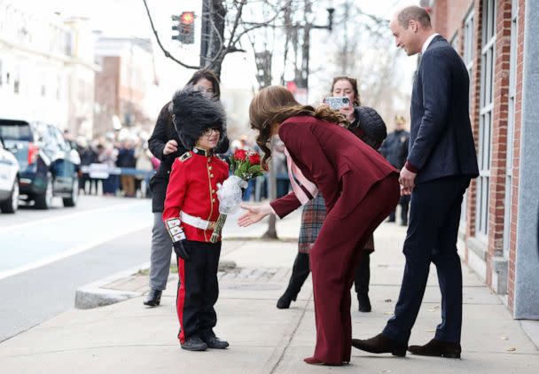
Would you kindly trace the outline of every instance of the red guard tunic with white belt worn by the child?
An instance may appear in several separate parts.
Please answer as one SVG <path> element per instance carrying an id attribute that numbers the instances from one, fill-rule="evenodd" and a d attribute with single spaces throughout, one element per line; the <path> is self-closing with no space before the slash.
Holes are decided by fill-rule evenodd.
<path id="1" fill-rule="evenodd" d="M 215 222 L 219 217 L 217 183 L 229 176 L 228 164 L 217 156 L 207 156 L 204 150 L 185 152 L 172 164 L 167 188 L 163 221 L 173 242 L 181 240 L 179 227 L 187 240 L 209 242 L 213 227 L 202 230 L 182 222 L 180 212 Z"/>

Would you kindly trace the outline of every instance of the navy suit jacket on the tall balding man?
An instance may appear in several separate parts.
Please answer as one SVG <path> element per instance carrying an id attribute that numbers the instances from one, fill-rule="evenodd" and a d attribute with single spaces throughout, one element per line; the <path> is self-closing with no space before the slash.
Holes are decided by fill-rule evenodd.
<path id="1" fill-rule="evenodd" d="M 407 168 L 416 183 L 452 175 L 479 175 L 469 113 L 465 64 L 440 35 L 421 58 L 411 96 Z"/>

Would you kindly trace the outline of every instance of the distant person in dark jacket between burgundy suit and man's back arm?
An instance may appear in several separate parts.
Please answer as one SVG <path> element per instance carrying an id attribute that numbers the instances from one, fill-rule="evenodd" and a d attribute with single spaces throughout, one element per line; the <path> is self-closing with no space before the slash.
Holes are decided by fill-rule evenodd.
<path id="1" fill-rule="evenodd" d="M 394 132 L 387 136 L 386 141 L 379 149 L 386 160 L 395 168 L 401 170 L 408 157 L 408 144 L 410 143 L 410 133 L 404 129 L 406 121 L 402 115 L 394 119 Z M 410 196 L 404 195 L 399 200 L 401 206 L 401 226 L 408 226 L 408 207 L 410 206 Z M 394 212 L 389 214 L 387 222 L 395 222 Z"/>

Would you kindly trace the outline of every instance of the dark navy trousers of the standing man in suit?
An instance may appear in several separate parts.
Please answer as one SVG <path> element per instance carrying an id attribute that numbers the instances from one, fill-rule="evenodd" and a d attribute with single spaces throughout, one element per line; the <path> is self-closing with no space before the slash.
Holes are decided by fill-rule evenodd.
<path id="1" fill-rule="evenodd" d="M 462 269 L 457 254 L 460 206 L 470 177 L 451 176 L 416 185 L 402 253 L 406 266 L 394 316 L 383 334 L 408 343 L 425 294 L 431 262 L 441 290 L 441 323 L 435 339 L 459 342 L 462 327 Z"/>

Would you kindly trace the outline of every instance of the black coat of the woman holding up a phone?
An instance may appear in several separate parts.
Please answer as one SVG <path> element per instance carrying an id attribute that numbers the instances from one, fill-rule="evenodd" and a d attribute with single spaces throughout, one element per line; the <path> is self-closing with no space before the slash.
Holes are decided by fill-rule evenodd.
<path id="1" fill-rule="evenodd" d="M 379 149 L 387 137 L 386 122 L 369 106 L 356 106 L 354 109 L 357 125 L 348 129 L 372 148 Z"/>

